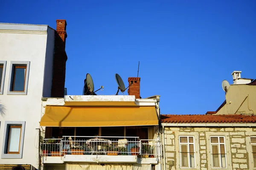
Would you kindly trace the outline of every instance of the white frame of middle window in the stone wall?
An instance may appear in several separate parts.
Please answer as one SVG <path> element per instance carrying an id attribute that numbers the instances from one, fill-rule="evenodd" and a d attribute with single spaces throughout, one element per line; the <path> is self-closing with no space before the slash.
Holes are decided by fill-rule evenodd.
<path id="1" fill-rule="evenodd" d="M 212 143 L 211 138 L 218 138 L 218 143 Z M 224 138 L 224 143 L 220 142 L 220 138 Z M 213 156 L 212 156 L 212 145 L 218 145 L 218 155 L 221 155 L 221 144 L 224 144 L 224 155 L 226 167 L 222 167 L 221 156 L 218 156 L 219 159 L 219 167 L 213 167 Z M 225 136 L 210 136 L 210 148 L 211 148 L 211 161 L 212 161 L 212 169 L 227 169 L 227 148 L 226 148 L 226 138 Z"/>

